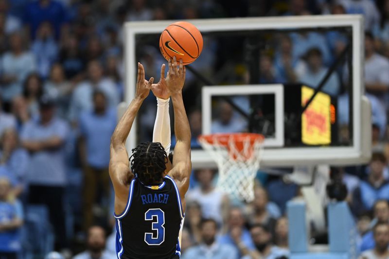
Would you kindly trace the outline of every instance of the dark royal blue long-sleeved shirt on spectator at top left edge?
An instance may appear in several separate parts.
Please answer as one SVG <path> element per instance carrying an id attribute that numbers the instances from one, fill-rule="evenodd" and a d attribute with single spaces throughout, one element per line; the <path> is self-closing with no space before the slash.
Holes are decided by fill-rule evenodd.
<path id="1" fill-rule="evenodd" d="M 67 22 L 68 17 L 64 6 L 57 1 L 51 0 L 47 6 L 41 6 L 39 1 L 27 4 L 24 10 L 24 22 L 31 28 L 31 36 L 34 39 L 39 25 L 49 21 L 54 29 L 55 38 L 59 39 L 61 26 Z"/>

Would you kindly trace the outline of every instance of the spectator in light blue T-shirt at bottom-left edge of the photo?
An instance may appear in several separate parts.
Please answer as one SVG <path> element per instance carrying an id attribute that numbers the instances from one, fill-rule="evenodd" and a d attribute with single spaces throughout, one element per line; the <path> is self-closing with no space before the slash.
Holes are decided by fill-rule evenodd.
<path id="1" fill-rule="evenodd" d="M 23 209 L 11 196 L 11 185 L 0 176 L 0 258 L 17 258 L 21 250 L 19 228 L 23 224 Z"/>

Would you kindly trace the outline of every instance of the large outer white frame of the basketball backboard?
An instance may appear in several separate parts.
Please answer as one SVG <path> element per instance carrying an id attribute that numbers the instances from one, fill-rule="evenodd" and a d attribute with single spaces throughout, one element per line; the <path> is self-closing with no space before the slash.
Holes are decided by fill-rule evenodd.
<path id="1" fill-rule="evenodd" d="M 364 74 L 362 64 L 364 61 L 364 18 L 361 15 L 327 15 L 327 16 L 298 16 L 298 17 L 249 17 L 229 19 L 197 19 L 188 20 L 201 32 L 228 32 L 255 29 L 288 29 L 288 28 L 315 28 L 315 27 L 344 27 L 351 26 L 353 34 L 353 145 L 350 147 L 308 147 L 308 148 L 279 148 L 265 149 L 262 164 L 266 166 L 294 166 L 304 164 L 328 163 L 334 165 L 348 165 L 365 163 L 370 153 L 367 151 L 371 142 L 369 132 L 366 132 L 365 123 L 370 123 L 370 114 L 361 110 L 361 95 L 364 93 Z M 129 104 L 135 96 L 136 60 L 135 37 L 137 34 L 160 33 L 165 27 L 173 23 L 173 20 L 126 22 L 125 33 L 125 102 Z M 356 62 L 356 61 L 359 62 Z M 369 106 L 368 104 L 364 107 Z M 362 120 L 363 117 L 363 120 Z M 369 121 L 369 122 L 367 122 Z M 363 123 L 365 122 L 365 123 Z M 363 134 L 362 131 L 363 130 Z M 127 149 L 131 150 L 137 144 L 137 123 L 131 130 L 127 141 Z M 364 146 L 362 146 L 364 144 Z M 215 167 L 211 157 L 204 151 L 192 152 L 194 168 Z"/>

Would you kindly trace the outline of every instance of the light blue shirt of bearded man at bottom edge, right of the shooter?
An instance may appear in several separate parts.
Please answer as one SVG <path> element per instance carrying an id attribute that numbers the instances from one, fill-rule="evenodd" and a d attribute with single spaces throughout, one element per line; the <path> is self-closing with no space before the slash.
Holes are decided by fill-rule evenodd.
<path id="1" fill-rule="evenodd" d="M 229 244 L 213 243 L 211 246 L 204 244 L 189 248 L 181 256 L 181 259 L 237 259 L 238 251 Z"/>

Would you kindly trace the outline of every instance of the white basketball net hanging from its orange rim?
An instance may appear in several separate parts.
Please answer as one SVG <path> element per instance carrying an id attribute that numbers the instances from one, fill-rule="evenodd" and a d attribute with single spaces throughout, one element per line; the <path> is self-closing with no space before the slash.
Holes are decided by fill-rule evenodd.
<path id="1" fill-rule="evenodd" d="M 216 188 L 231 197 L 254 200 L 254 179 L 259 169 L 264 136 L 254 133 L 201 135 L 201 146 L 219 169 Z"/>

